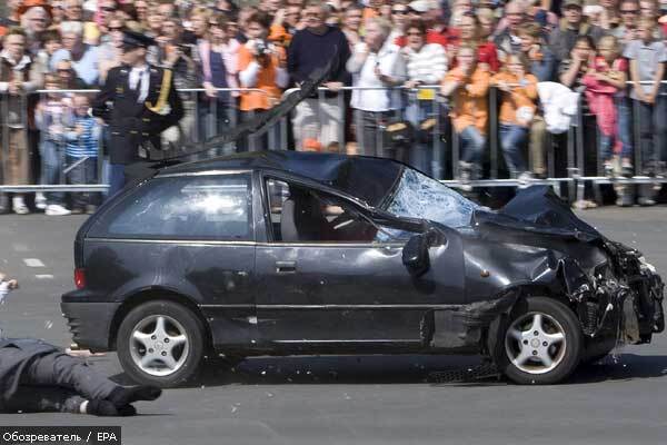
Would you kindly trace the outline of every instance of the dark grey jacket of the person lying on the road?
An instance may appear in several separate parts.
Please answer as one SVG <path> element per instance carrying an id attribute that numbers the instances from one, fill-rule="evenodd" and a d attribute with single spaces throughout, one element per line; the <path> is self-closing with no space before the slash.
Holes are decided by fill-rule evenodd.
<path id="1" fill-rule="evenodd" d="M 26 367 L 34 358 L 59 350 L 56 346 L 32 338 L 0 339 L 0 412 L 19 387 Z"/>

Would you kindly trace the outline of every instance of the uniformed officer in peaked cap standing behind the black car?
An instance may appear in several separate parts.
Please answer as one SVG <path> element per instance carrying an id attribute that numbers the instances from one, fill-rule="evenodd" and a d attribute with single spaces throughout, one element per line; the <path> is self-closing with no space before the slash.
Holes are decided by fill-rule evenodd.
<path id="1" fill-rule="evenodd" d="M 160 134 L 183 116 L 171 70 L 146 61 L 155 41 L 139 32 L 123 31 L 123 65 L 112 68 L 92 103 L 92 115 L 110 131 L 110 188 L 113 196 L 126 184 L 125 167 L 160 147 Z"/>

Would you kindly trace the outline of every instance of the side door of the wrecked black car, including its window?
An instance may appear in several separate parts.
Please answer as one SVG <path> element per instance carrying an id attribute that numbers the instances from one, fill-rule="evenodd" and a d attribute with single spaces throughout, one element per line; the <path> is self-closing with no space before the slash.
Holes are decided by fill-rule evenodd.
<path id="1" fill-rule="evenodd" d="M 265 178 L 263 191 L 271 218 L 269 240 L 258 244 L 256 257 L 262 339 L 303 346 L 422 342 L 425 315 L 456 293 L 435 274 L 422 280 L 410 276 L 402 264 L 402 248 L 414 234 L 389 227 L 382 229 L 387 233 L 378 231 L 359 215 L 355 217 L 351 202 L 289 181 Z M 331 227 L 320 234 L 307 227 L 310 230 L 300 238 L 290 235 L 299 225 L 289 221 L 289 211 L 298 212 L 290 208 L 290 200 L 309 192 L 341 208 L 342 215 L 334 218 L 331 227 L 346 228 L 342 236 L 327 234 Z M 318 225 L 317 220 L 307 222 Z M 437 255 L 449 255 L 447 248 Z M 452 255 L 460 255 L 460 248 L 454 250 Z M 457 265 L 462 260 L 452 263 L 452 283 L 460 288 L 464 274 Z"/>

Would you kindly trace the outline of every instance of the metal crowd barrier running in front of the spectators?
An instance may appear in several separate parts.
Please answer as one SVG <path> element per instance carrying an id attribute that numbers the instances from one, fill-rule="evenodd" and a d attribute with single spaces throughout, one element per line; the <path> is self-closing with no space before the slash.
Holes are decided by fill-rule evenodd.
<path id="1" fill-rule="evenodd" d="M 633 82 L 628 82 L 633 83 Z M 417 98 L 419 91 L 431 90 L 434 91 L 434 106 L 431 116 L 435 119 L 434 131 L 430 137 L 430 147 L 431 147 L 431 159 L 430 159 L 430 172 L 437 179 L 442 180 L 442 182 L 447 184 L 450 187 L 461 187 L 462 185 L 456 179 L 458 177 L 458 160 L 459 160 L 459 150 L 460 144 L 457 138 L 456 131 L 451 130 L 451 126 L 448 125 L 448 116 L 447 116 L 447 100 L 441 98 L 438 95 L 440 86 L 431 85 L 431 86 L 422 86 L 417 89 L 407 89 L 405 87 L 395 87 L 390 90 L 396 90 L 401 95 L 401 101 L 406 106 L 399 107 L 397 110 L 394 110 L 391 113 L 387 115 L 378 115 L 378 119 L 375 122 L 375 144 L 376 144 L 376 155 L 381 154 L 381 150 L 385 149 L 385 130 L 387 129 L 387 125 L 391 123 L 395 120 L 405 120 L 405 111 L 406 109 L 415 105 L 415 101 L 421 100 Z M 329 140 L 334 142 L 330 147 L 321 147 L 323 150 L 334 150 L 334 151 L 346 151 L 348 140 L 346 138 L 347 127 L 346 125 L 349 122 L 349 93 L 355 90 L 386 90 L 387 88 L 358 88 L 358 87 L 342 87 L 336 91 L 329 90 L 328 88 L 319 88 L 317 90 L 317 120 L 322 121 L 322 117 L 330 110 L 325 109 L 325 103 L 327 96 L 334 96 L 335 102 L 335 111 L 337 116 L 329 117 L 334 118 L 336 122 L 336 135 L 334 137 L 329 136 Z M 155 159 L 172 157 L 178 155 L 188 155 L 183 152 L 181 147 L 187 146 L 188 142 L 197 142 L 201 141 L 208 137 L 215 136 L 220 131 L 223 131 L 225 128 L 236 126 L 239 121 L 240 112 L 238 110 L 238 100 L 237 96 L 243 91 L 255 91 L 260 93 L 266 93 L 259 89 L 218 89 L 221 95 L 228 95 L 227 100 L 215 100 L 212 106 L 211 103 L 207 103 L 207 101 L 201 100 L 201 95 L 205 92 L 202 88 L 192 88 L 192 89 L 179 89 L 181 93 L 181 98 L 183 99 L 183 106 L 186 108 L 186 117 L 181 121 L 181 125 L 178 127 L 178 137 L 173 135 L 162 135 L 163 147 L 162 150 L 156 150 L 152 152 Z M 289 95 L 295 93 L 298 89 L 289 89 L 285 91 L 282 98 L 287 98 Z M 37 99 L 43 99 L 46 95 L 61 95 L 63 97 L 72 96 L 74 93 L 78 95 L 92 95 L 97 93 L 98 90 L 39 90 L 32 95 L 38 95 Z M 334 93 L 334 95 L 331 95 Z M 30 128 L 32 129 L 32 123 L 30 122 L 30 113 L 29 106 L 31 102 L 30 97 L 28 96 L 19 96 L 19 100 L 21 101 L 21 112 L 19 127 Z M 583 95 L 581 95 L 583 98 Z M 1 99 L 7 99 L 2 97 Z M 407 102 L 406 102 L 407 101 Z M 331 102 L 331 100 L 329 100 Z M 634 101 L 633 101 L 634 102 Z M 11 125 L 9 121 L 9 102 L 8 100 L 0 100 L 0 128 L 2 129 L 2 149 L 8 147 L 8 132 L 7 127 Z M 639 168 L 641 166 L 641 144 L 640 144 L 640 116 L 638 113 L 638 107 L 636 103 L 633 103 L 634 111 L 634 157 L 635 157 L 635 168 Z M 292 112 L 292 115 L 296 111 Z M 252 113 L 248 113 L 243 118 L 252 118 Z M 585 185 L 587 182 L 593 184 L 596 195 L 597 187 L 603 184 L 656 184 L 656 182 L 667 182 L 667 178 L 655 178 L 647 176 L 636 175 L 631 178 L 607 178 L 600 175 L 601 165 L 598 152 L 598 144 L 596 141 L 595 145 L 587 144 L 588 135 L 585 131 L 584 122 L 586 117 L 583 112 L 583 107 L 579 107 L 579 115 L 574 119 L 573 125 L 568 129 L 567 138 L 566 138 L 566 171 L 563 172 L 561 176 L 557 176 L 555 168 L 555 146 L 551 140 L 551 136 L 547 132 L 547 141 L 545 144 L 546 147 L 546 162 L 547 162 L 547 179 L 534 179 L 530 184 L 544 184 L 554 187 L 554 189 L 560 194 L 560 187 L 563 185 L 567 185 L 569 188 L 569 197 L 574 199 L 575 197 L 581 198 L 584 196 Z M 447 122 L 445 127 L 449 127 L 450 131 L 447 131 L 447 128 L 444 128 L 444 122 Z M 521 184 L 517 179 L 508 179 L 500 178 L 500 159 L 499 159 L 499 138 L 498 138 L 498 95 L 495 88 L 490 89 L 489 92 L 489 131 L 487 137 L 487 146 L 488 146 L 488 161 L 489 161 L 489 177 L 488 179 L 478 179 L 470 181 L 470 185 L 474 187 L 518 187 Z M 595 125 L 595 123 L 594 123 Z M 242 147 L 243 150 L 260 150 L 260 149 L 288 149 L 289 147 L 289 122 L 288 119 L 285 118 L 278 126 L 278 128 L 273 128 L 268 131 L 268 137 L 266 139 L 257 138 L 256 136 L 250 136 L 249 142 L 247 146 Z M 171 129 L 170 129 L 171 130 Z M 302 130 L 301 128 L 295 130 Z M 29 147 L 29 132 L 24 131 L 26 146 Z M 360 134 L 357 128 L 357 140 L 360 139 Z M 322 135 L 317 135 L 320 138 Z M 43 137 L 43 136 L 40 136 Z M 100 138 L 102 140 L 102 138 Z M 325 141 L 326 142 L 326 141 Z M 659 141 L 658 141 L 659 142 Z M 165 146 L 168 146 L 167 148 Z M 359 148 L 359 144 L 357 144 Z M 597 156 L 597 176 L 587 176 L 585 175 L 585 154 L 586 149 L 590 149 L 590 147 L 595 147 L 594 149 L 598 154 Z M 233 152 L 240 149 L 240 147 L 236 147 L 233 145 L 229 145 L 228 147 L 220 147 L 218 149 L 212 150 L 211 152 L 200 154 L 197 158 L 205 158 L 210 156 L 219 156 L 228 152 Z M 215 151 L 215 152 L 213 152 Z M 98 184 L 88 184 L 88 185 L 71 185 L 66 184 L 64 175 L 60 175 L 60 184 L 42 184 L 42 185 L 4 185 L 0 181 L 0 192 L 1 191 L 14 191 L 14 192 L 31 192 L 31 191 L 103 191 L 107 189 L 107 185 L 104 184 L 104 157 L 102 156 L 102 148 L 99 147 L 98 150 Z M 447 156 L 449 155 L 449 157 Z M 531 150 L 527 150 L 527 164 L 531 165 Z M 64 165 L 64 162 L 63 162 Z M 1 171 L 0 171 L 1 172 Z M 63 171 L 64 174 L 66 171 Z"/>

